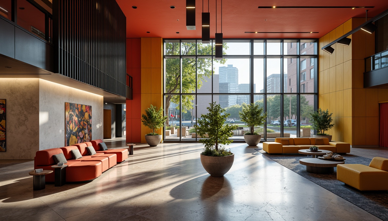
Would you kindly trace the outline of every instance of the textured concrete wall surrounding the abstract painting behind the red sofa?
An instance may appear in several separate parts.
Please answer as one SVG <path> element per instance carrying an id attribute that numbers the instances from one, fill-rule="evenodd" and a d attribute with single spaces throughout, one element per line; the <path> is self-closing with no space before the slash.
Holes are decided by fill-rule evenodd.
<path id="1" fill-rule="evenodd" d="M 39 100 L 41 150 L 65 146 L 65 102 L 92 106 L 92 139 L 103 138 L 102 96 L 40 79 Z"/>

